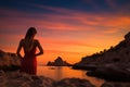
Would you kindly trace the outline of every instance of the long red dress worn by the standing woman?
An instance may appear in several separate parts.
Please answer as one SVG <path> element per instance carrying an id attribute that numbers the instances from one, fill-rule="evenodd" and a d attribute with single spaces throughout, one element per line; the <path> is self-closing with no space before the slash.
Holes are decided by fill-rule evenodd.
<path id="1" fill-rule="evenodd" d="M 37 59 L 35 57 L 36 47 L 34 47 L 29 51 L 26 51 L 24 49 L 24 52 L 25 52 L 25 55 L 21 61 L 21 63 L 22 63 L 21 72 L 36 75 L 36 73 L 37 73 Z"/>

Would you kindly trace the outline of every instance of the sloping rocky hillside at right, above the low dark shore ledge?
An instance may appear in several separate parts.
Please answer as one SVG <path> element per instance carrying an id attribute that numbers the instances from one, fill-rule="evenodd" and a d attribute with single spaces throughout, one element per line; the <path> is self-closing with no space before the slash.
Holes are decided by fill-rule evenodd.
<path id="1" fill-rule="evenodd" d="M 88 65 L 104 65 L 109 63 L 129 64 L 130 63 L 130 32 L 125 35 L 125 39 L 108 50 L 87 55 L 74 65 L 74 69 L 80 69 Z"/>

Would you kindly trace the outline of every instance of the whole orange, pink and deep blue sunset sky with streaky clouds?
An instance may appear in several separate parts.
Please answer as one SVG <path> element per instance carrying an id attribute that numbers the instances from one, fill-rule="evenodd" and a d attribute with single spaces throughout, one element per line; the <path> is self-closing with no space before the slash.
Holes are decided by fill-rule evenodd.
<path id="1" fill-rule="evenodd" d="M 34 26 L 46 64 L 57 57 L 76 63 L 108 49 L 130 32 L 130 0 L 0 0 L 0 49 L 16 52 Z"/>

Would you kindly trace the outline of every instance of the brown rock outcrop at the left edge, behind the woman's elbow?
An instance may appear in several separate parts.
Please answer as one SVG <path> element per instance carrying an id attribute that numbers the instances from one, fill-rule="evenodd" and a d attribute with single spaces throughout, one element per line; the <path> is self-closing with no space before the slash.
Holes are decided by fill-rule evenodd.
<path id="1" fill-rule="evenodd" d="M 15 53 L 0 50 L 0 70 L 14 71 L 21 66 L 21 59 Z"/>

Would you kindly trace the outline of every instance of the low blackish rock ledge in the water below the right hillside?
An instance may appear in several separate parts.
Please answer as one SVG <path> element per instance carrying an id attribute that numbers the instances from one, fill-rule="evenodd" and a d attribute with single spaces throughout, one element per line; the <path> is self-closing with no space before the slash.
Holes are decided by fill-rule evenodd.
<path id="1" fill-rule="evenodd" d="M 87 75 L 113 82 L 130 82 L 130 70 L 118 67 L 115 64 L 89 71 Z"/>

